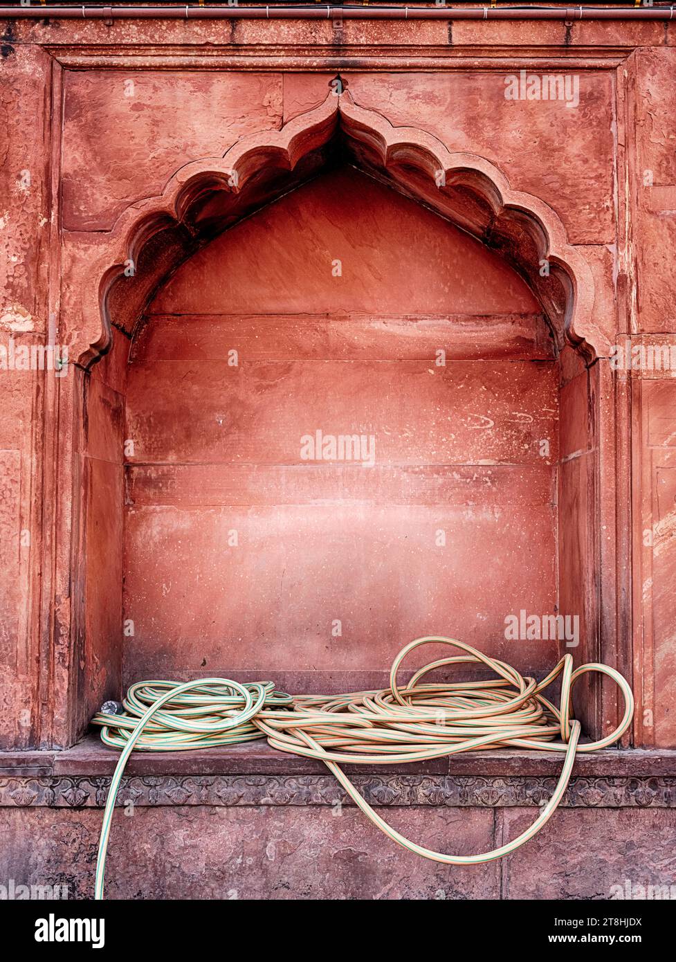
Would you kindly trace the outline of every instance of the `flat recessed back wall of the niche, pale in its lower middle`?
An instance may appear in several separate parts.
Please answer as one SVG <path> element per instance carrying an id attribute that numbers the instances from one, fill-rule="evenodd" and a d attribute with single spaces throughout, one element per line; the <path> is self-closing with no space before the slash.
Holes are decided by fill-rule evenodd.
<path id="1" fill-rule="evenodd" d="M 557 603 L 551 355 L 511 268 L 353 168 L 209 244 L 132 346 L 126 680 L 380 684 L 439 625 L 513 657 L 505 616 Z M 363 436 L 371 467 L 308 460 L 317 430 Z"/>

